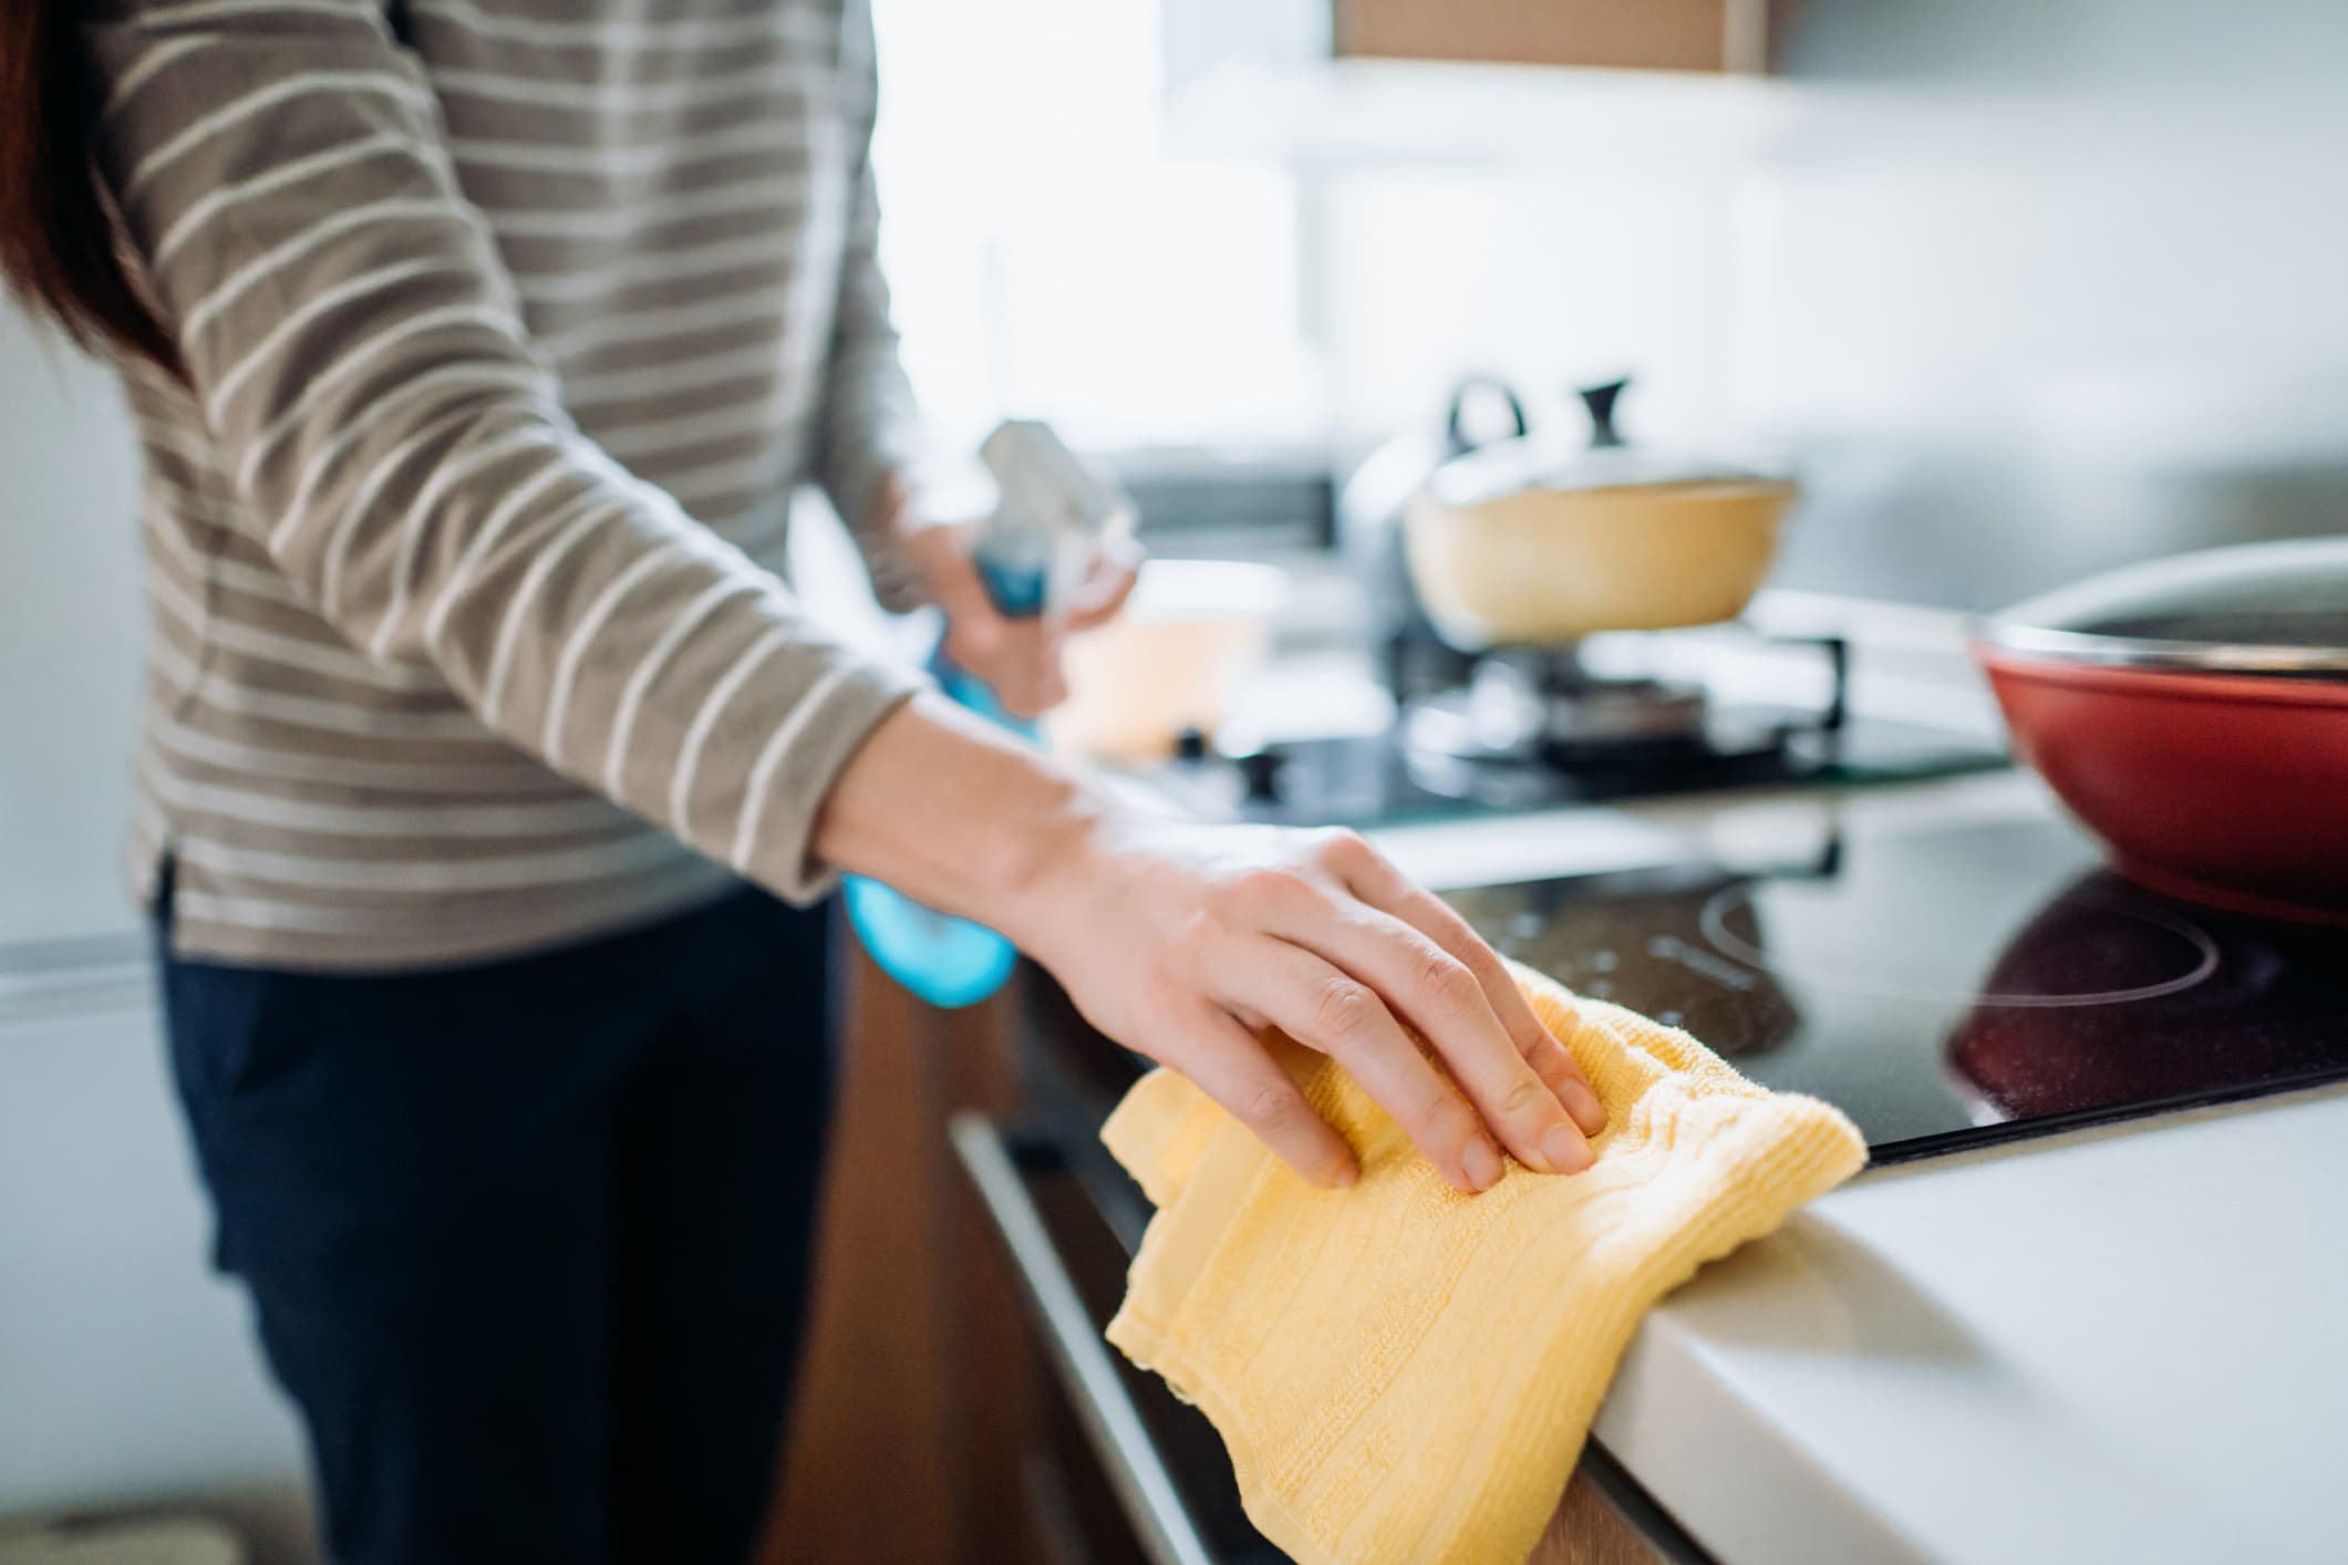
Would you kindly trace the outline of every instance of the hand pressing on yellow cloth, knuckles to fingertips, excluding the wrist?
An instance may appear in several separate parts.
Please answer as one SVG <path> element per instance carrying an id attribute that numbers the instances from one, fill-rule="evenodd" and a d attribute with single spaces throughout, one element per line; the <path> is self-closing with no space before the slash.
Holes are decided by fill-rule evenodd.
<path id="1" fill-rule="evenodd" d="M 1352 1183 L 1355 1157 L 1266 1051 L 1266 1025 L 1343 1063 L 1460 1190 L 1496 1185 L 1503 1147 L 1543 1173 L 1592 1161 L 1606 1115 L 1573 1056 L 1468 922 L 1355 833 L 1111 812 L 1028 908 L 1021 943 L 1087 1021 L 1315 1183 Z"/>

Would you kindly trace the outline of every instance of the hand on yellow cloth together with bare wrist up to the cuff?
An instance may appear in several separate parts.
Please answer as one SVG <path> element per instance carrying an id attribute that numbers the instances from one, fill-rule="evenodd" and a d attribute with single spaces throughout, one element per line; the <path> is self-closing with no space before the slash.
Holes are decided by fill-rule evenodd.
<path id="1" fill-rule="evenodd" d="M 1500 1147 L 1590 1166 L 1606 1117 L 1573 1056 L 1460 915 L 1348 831 L 1141 814 L 923 695 L 834 781 L 815 852 L 993 924 L 1101 1032 L 1197 1082 L 1305 1178 L 1343 1185 L 1355 1157 L 1266 1051 L 1266 1023 L 1345 1065 L 1460 1190 L 1500 1178 Z"/>

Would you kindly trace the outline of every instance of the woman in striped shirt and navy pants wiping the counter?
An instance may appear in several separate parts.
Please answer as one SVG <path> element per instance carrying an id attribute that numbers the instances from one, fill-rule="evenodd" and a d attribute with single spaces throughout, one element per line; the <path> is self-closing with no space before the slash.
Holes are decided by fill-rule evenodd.
<path id="1" fill-rule="evenodd" d="M 744 1556 L 841 870 L 1005 929 L 1315 1180 L 1352 1157 L 1266 1023 L 1463 1190 L 1599 1129 L 1357 838 L 1136 817 L 810 624 L 770 568 L 801 479 L 965 666 L 1057 695 L 902 479 L 862 5 L 653 9 L 0 23 L 7 275 L 115 352 L 146 453 L 171 1061 L 362 1565 Z"/>

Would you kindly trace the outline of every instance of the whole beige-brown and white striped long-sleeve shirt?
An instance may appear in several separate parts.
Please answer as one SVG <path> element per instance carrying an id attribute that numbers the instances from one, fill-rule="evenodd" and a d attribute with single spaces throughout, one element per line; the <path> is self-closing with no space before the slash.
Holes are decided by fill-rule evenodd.
<path id="1" fill-rule="evenodd" d="M 812 894 L 911 687 L 775 575 L 911 399 L 862 0 L 115 0 L 101 183 L 185 380 L 129 368 L 134 870 L 188 955 L 463 962 L 749 875 Z M 883 598 L 904 596 L 869 537 Z"/>

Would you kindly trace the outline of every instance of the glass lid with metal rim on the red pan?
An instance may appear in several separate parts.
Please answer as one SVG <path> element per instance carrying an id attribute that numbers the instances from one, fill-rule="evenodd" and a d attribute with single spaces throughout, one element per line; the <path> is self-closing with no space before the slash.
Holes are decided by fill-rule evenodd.
<path id="1" fill-rule="evenodd" d="M 2017 603 L 1977 636 L 2064 662 L 2348 678 L 2348 537 L 2127 565 Z"/>

